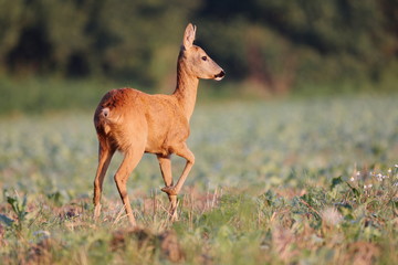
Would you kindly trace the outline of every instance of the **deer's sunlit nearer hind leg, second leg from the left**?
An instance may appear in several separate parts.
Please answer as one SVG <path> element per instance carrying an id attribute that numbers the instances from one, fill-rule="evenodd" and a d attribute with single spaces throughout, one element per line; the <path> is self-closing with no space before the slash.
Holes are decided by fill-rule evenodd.
<path id="1" fill-rule="evenodd" d="M 126 210 L 126 214 L 128 216 L 129 223 L 135 226 L 136 221 L 133 215 L 133 210 L 129 204 L 128 194 L 127 194 L 127 180 L 129 174 L 133 172 L 133 170 L 137 167 L 139 160 L 142 159 L 144 155 L 144 148 L 143 149 L 135 149 L 135 150 L 127 150 L 125 152 L 125 157 L 123 159 L 123 162 L 121 167 L 117 169 L 115 174 L 115 182 L 117 190 L 121 194 L 123 204 Z"/>

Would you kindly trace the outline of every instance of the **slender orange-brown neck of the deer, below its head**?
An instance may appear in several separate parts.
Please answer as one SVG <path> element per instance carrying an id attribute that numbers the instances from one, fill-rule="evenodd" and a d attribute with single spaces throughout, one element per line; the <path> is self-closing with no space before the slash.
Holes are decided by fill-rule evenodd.
<path id="1" fill-rule="evenodd" d="M 199 78 L 187 73 L 182 62 L 177 66 L 177 86 L 174 96 L 177 98 L 185 116 L 192 116 L 198 93 Z"/>

